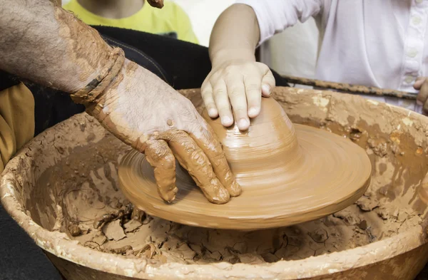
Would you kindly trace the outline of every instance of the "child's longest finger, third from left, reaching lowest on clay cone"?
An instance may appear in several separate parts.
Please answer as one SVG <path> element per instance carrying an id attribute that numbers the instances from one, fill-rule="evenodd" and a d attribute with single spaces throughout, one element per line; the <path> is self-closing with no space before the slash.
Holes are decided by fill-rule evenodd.
<path id="1" fill-rule="evenodd" d="M 247 96 L 245 95 L 243 78 L 242 76 L 231 76 L 226 81 L 226 85 L 238 128 L 247 130 L 250 127 L 250 119 L 248 118 Z"/>

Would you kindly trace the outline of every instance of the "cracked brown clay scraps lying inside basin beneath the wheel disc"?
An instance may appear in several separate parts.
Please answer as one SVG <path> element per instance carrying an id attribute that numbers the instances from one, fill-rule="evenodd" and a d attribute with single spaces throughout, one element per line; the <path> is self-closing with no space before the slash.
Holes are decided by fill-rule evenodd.
<path id="1" fill-rule="evenodd" d="M 264 264 L 305 259 L 370 244 L 422 222 L 411 207 L 376 199 L 370 192 L 328 217 L 253 232 L 189 227 L 141 212 L 137 214 L 138 211 L 132 217 L 130 202 L 117 185 L 117 160 L 128 148 L 118 156 L 117 151 L 111 150 L 115 145 L 118 140 L 108 137 L 101 140 L 96 149 L 78 147 L 62 165 L 46 170 L 39 184 L 53 184 L 58 188 L 56 195 L 62 197 L 61 214 L 56 210 L 56 219 L 47 214 L 38 216 L 36 213 L 42 212 L 37 209 L 47 205 L 31 199 L 28 203 L 33 219 L 48 229 L 49 224 L 59 220 L 61 231 L 79 244 L 100 252 L 123 254 L 131 259 L 150 256 L 161 263 L 181 264 L 220 261 Z M 83 153 L 94 159 L 91 164 L 80 162 Z M 389 167 L 390 163 L 387 169 Z M 68 180 L 61 179 L 65 177 Z M 374 182 L 379 180 L 382 181 L 377 172 Z M 56 195 L 48 190 L 34 190 L 30 197 L 40 195 L 51 197 L 52 205 L 55 204 Z M 67 224 L 77 224 L 82 234 L 73 236 Z"/>

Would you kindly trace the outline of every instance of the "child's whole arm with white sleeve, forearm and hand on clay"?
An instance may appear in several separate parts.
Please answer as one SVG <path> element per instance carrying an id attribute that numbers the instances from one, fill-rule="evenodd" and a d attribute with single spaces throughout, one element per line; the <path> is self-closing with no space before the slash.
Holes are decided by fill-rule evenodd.
<path id="1" fill-rule="evenodd" d="M 255 47 L 297 21 L 318 14 L 322 0 L 240 0 L 220 15 L 210 38 L 213 69 L 202 85 L 210 117 L 240 130 L 260 113 L 261 96 L 275 88 L 269 68 L 255 61 Z M 230 106 L 233 108 L 230 109 Z"/>

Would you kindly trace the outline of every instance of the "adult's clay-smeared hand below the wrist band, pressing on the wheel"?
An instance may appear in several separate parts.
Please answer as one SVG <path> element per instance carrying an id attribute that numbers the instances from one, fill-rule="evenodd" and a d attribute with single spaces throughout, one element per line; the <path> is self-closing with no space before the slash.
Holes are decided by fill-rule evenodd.
<path id="1" fill-rule="evenodd" d="M 165 201 L 173 201 L 178 191 L 175 158 L 210 202 L 222 204 L 240 195 L 220 142 L 190 100 L 136 63 L 126 61 L 117 83 L 88 111 L 146 154 Z"/>

